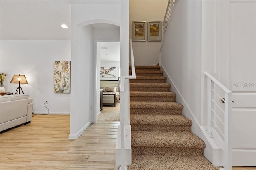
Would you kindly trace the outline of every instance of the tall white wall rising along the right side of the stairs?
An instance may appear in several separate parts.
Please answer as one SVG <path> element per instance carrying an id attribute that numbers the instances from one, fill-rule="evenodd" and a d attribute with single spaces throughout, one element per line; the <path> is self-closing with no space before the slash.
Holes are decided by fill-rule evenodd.
<path id="1" fill-rule="evenodd" d="M 183 114 L 193 121 L 192 132 L 206 143 L 204 156 L 216 166 L 222 165 L 221 150 L 212 148 L 205 131 L 206 80 L 203 72 L 216 76 L 218 41 L 216 41 L 216 10 L 218 1 L 177 1 L 174 5 L 166 39 L 162 46 L 160 65 L 177 93 L 176 101 L 184 105 Z M 216 146 L 216 145 L 214 145 Z"/>

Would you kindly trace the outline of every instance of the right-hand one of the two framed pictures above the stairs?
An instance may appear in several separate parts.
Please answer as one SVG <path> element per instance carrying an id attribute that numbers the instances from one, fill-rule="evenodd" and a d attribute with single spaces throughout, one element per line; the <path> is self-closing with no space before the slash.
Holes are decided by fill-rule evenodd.
<path id="1" fill-rule="evenodd" d="M 148 21 L 148 41 L 162 40 L 162 22 Z"/>

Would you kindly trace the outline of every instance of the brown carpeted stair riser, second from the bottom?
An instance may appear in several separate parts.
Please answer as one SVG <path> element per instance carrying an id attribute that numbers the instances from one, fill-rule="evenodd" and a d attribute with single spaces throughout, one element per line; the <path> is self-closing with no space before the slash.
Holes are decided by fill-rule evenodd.
<path id="1" fill-rule="evenodd" d="M 131 124 L 132 131 L 180 131 L 191 132 L 190 125 L 134 125 Z"/>

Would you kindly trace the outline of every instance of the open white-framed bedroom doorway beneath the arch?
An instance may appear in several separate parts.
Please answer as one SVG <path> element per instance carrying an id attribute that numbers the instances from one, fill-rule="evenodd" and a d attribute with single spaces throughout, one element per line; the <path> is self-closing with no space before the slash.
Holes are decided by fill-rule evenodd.
<path id="1" fill-rule="evenodd" d="M 112 105 L 110 99 L 110 104 L 105 105 L 106 101 L 101 107 L 101 95 L 100 87 L 101 80 L 108 82 L 119 82 L 120 77 L 120 39 L 109 38 L 109 39 L 94 39 L 94 51 L 96 58 L 96 108 L 94 113 L 94 121 L 118 121 L 119 120 L 119 103 L 116 102 L 116 107 Z M 103 69 L 103 74 L 102 73 Z M 107 71 L 104 71 L 107 70 Z M 107 84 L 109 85 L 109 84 Z M 106 87 L 105 85 L 104 87 Z M 111 87 L 111 85 L 109 85 Z M 119 91 L 119 83 L 116 85 Z M 102 110 L 101 110 L 102 108 Z M 117 119 L 118 116 L 118 119 Z"/>

